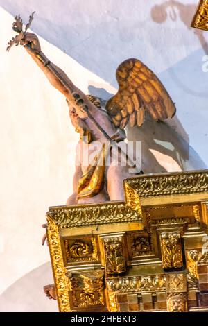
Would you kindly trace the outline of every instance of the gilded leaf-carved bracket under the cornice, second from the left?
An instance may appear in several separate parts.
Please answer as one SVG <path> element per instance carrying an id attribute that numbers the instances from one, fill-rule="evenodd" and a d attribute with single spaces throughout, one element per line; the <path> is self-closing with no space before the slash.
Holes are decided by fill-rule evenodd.
<path id="1" fill-rule="evenodd" d="M 162 232 L 160 234 L 162 266 L 180 268 L 183 266 L 180 232 Z"/>

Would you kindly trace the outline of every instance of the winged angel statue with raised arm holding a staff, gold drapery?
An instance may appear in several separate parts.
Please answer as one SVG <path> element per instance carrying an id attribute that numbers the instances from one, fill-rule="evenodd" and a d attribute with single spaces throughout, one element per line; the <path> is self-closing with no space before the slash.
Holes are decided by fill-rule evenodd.
<path id="1" fill-rule="evenodd" d="M 97 98 L 83 94 L 46 58 L 35 34 L 20 31 L 20 17 L 15 19 L 13 29 L 19 32 L 16 43 L 24 45 L 51 85 L 66 97 L 71 123 L 80 132 L 73 194 L 67 204 L 123 200 L 123 180 L 132 176 L 132 171 L 141 173 L 141 167 L 135 164 L 137 157 L 127 153 L 124 128 L 127 123 L 141 126 L 146 112 L 156 121 L 173 117 L 171 97 L 153 71 L 137 59 L 128 59 L 116 71 L 119 91 L 101 108 Z M 30 23 L 32 20 L 33 15 Z M 14 43 L 15 38 L 8 49 Z"/>

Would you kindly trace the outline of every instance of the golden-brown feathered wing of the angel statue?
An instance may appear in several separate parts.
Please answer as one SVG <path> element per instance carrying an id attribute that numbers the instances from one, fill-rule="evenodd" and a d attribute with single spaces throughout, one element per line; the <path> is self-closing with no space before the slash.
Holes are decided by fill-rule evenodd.
<path id="1" fill-rule="evenodd" d="M 176 108 L 157 76 L 137 59 L 128 59 L 116 70 L 119 91 L 110 98 L 106 110 L 116 128 L 141 126 L 147 110 L 153 119 L 173 117 Z"/>

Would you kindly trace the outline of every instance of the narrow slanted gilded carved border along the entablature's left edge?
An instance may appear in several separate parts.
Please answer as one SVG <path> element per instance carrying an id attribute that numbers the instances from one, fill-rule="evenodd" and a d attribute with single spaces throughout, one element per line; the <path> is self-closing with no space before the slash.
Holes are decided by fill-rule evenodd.
<path id="1" fill-rule="evenodd" d="M 64 268 L 58 227 L 51 220 L 51 218 L 49 218 L 49 216 L 47 221 L 47 238 L 49 241 L 49 250 L 51 254 L 51 264 L 53 267 L 53 277 L 55 280 L 58 306 L 60 312 L 69 312 L 69 282 L 65 275 L 66 270 Z"/>

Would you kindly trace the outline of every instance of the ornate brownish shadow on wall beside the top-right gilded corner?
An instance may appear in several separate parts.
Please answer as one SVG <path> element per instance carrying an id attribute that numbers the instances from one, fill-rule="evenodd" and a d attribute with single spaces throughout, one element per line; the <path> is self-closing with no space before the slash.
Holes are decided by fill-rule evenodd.
<path id="1" fill-rule="evenodd" d="M 168 0 L 161 5 L 155 5 L 151 10 L 151 16 L 153 18 L 153 22 L 156 22 L 158 24 L 162 24 L 166 22 L 166 19 L 168 17 L 171 18 L 171 20 L 176 21 L 177 19 L 177 12 L 178 11 L 180 20 L 184 23 L 185 26 L 187 26 L 188 29 L 192 29 L 193 33 L 196 34 L 198 37 L 198 40 L 204 49 L 205 53 L 208 54 L 208 44 L 204 36 L 204 32 L 196 29 L 191 28 L 191 22 L 193 19 L 193 15 L 196 12 L 196 5 L 195 4 L 183 4 L 179 1 L 175 0 Z"/>

